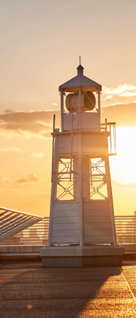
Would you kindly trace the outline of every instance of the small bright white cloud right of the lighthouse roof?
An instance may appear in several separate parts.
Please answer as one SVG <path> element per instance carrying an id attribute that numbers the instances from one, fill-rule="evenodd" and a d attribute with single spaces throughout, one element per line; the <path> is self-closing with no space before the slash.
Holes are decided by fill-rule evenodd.
<path id="1" fill-rule="evenodd" d="M 108 95 L 118 95 L 124 97 L 136 96 L 136 86 L 124 84 L 117 88 L 103 86 L 103 93 Z"/>

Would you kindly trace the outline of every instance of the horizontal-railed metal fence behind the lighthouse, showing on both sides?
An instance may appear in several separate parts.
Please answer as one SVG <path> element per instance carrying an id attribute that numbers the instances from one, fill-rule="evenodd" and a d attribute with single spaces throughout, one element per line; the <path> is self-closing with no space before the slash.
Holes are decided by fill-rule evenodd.
<path id="1" fill-rule="evenodd" d="M 118 244 L 136 244 L 136 216 L 115 216 Z M 49 217 L 13 235 L 0 243 L 3 245 L 46 245 L 48 242 Z"/>

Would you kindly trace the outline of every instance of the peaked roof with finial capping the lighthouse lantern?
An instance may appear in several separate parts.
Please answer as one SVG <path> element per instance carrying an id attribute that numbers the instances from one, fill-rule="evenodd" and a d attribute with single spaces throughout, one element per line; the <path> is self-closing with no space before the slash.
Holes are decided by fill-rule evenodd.
<path id="1" fill-rule="evenodd" d="M 78 92 L 78 87 L 83 87 L 84 91 L 97 92 L 98 88 L 102 90 L 102 86 L 90 78 L 83 75 L 83 66 L 79 65 L 77 67 L 77 76 L 73 77 L 66 83 L 59 86 L 59 89 L 63 89 L 64 92 Z"/>

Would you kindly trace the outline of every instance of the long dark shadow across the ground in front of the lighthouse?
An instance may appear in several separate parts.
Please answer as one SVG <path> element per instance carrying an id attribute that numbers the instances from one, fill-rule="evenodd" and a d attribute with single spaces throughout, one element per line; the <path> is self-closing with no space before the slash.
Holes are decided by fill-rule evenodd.
<path id="1" fill-rule="evenodd" d="M 111 283 L 117 285 L 123 280 L 121 276 L 118 266 L 42 268 L 40 262 L 3 264 L 0 266 L 1 317 L 85 317 L 83 312 L 92 299 L 114 297 L 102 286 L 105 282 L 109 287 Z"/>

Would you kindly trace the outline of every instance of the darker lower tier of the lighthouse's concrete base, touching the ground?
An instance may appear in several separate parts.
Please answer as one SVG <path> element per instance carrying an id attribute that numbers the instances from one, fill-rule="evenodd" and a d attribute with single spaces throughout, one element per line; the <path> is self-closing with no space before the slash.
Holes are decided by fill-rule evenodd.
<path id="1" fill-rule="evenodd" d="M 43 267 L 122 266 L 123 255 L 42 257 Z"/>

